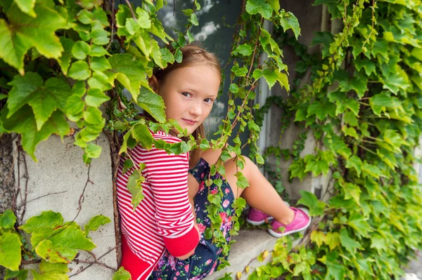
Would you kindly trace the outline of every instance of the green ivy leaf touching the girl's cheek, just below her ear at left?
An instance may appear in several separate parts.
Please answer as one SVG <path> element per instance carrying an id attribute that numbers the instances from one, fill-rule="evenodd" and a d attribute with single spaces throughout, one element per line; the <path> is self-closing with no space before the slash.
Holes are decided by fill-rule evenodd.
<path id="1" fill-rule="evenodd" d="M 151 114 L 155 120 L 160 123 L 166 121 L 165 117 L 165 104 L 161 96 L 151 91 L 149 88 L 142 87 L 141 93 L 137 98 L 137 102 L 142 109 L 148 114 Z"/>

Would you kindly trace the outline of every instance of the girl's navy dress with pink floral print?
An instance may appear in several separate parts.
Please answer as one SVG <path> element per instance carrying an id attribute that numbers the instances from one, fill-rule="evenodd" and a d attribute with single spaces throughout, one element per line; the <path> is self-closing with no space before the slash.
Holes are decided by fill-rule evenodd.
<path id="1" fill-rule="evenodd" d="M 217 194 L 218 186 L 212 184 L 205 185 L 205 180 L 210 173 L 210 166 L 204 159 L 200 159 L 195 168 L 189 171 L 199 182 L 199 191 L 194 199 L 196 222 L 200 230 L 200 241 L 195 249 L 195 253 L 186 260 L 179 260 L 165 250 L 164 255 L 158 261 L 157 267 L 153 270 L 148 280 L 199 280 L 215 272 L 219 265 L 219 258 L 222 257 L 222 248 L 212 243 L 212 239 L 205 239 L 205 229 L 211 227 L 211 221 L 207 217 L 207 206 L 210 204 L 208 194 Z M 231 204 L 234 201 L 234 194 L 229 183 L 219 173 L 210 176 L 215 180 L 221 178 L 222 183 L 222 204 L 219 208 L 219 215 L 222 217 L 222 227 L 220 228 L 226 238 L 230 241 L 229 231 L 231 229 L 231 217 L 234 209 Z M 227 257 L 226 257 L 227 258 Z"/>

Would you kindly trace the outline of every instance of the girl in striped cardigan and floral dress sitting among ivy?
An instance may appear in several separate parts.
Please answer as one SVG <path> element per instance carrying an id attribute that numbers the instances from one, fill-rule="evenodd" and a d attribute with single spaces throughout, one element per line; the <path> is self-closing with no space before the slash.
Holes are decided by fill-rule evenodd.
<path id="1" fill-rule="evenodd" d="M 203 121 L 210 114 L 217 98 L 221 69 L 218 58 L 198 46 L 181 48 L 183 61 L 174 62 L 166 69 L 157 69 L 150 86 L 165 102 L 167 119 L 175 119 L 189 134 L 204 137 Z M 153 138 L 170 143 L 180 142 L 177 131 L 170 135 L 158 131 Z M 143 279 L 203 279 L 219 265 L 222 249 L 205 239 L 210 227 L 207 218 L 207 196 L 216 194 L 218 187 L 205 186 L 210 165 L 215 164 L 221 150 L 196 149 L 186 154 L 167 154 L 164 150 L 143 149 L 137 145 L 128 149 L 132 159 L 146 164 L 142 183 L 144 198 L 132 210 L 132 195 L 127 180 L 133 170 L 122 173 L 122 156 L 117 175 L 117 201 L 122 227 L 121 265 L 132 275 L 132 280 Z M 129 157 L 128 157 L 129 158 Z M 242 196 L 252 207 L 248 222 L 259 225 L 269 218 L 270 234 L 283 236 L 299 232 L 309 226 L 309 215 L 302 209 L 289 208 L 264 178 L 255 164 L 245 157 L 243 175 L 250 184 L 245 189 L 236 187 L 236 162 L 226 161 L 226 176 L 219 173 L 212 180 L 222 178 L 222 232 L 230 240 L 231 207 L 234 199 Z M 191 168 L 191 169 L 189 169 Z M 284 227 L 283 232 L 280 227 Z"/>

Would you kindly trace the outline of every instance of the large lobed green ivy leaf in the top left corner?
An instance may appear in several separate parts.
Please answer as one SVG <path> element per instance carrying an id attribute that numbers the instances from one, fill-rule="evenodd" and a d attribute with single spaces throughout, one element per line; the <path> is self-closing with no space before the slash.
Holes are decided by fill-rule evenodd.
<path id="1" fill-rule="evenodd" d="M 7 11 L 8 22 L 0 19 L 0 58 L 18 69 L 20 74 L 24 74 L 23 58 L 30 48 L 37 48 L 46 58 L 59 58 L 63 46 L 55 32 L 69 28 L 66 20 L 48 6 L 35 5 L 34 12 L 36 18 L 12 5 Z"/>

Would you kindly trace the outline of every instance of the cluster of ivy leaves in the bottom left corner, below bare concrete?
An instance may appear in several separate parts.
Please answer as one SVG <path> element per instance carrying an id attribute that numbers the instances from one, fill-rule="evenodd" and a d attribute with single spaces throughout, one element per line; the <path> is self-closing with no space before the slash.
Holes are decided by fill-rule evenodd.
<path id="1" fill-rule="evenodd" d="M 30 246 L 15 229 L 16 216 L 11 210 L 0 214 L 0 265 L 6 267 L 5 279 L 27 279 L 28 269 L 20 269 L 22 259 L 35 260 L 39 271 L 30 269 L 34 279 L 69 279 L 68 263 L 79 250 L 91 251 L 96 245 L 91 241 L 89 231 L 110 222 L 103 215 L 95 216 L 85 225 L 85 231 L 76 222 L 64 222 L 60 213 L 44 211 L 29 218 L 19 227 L 30 236 Z M 35 262 L 35 263 L 36 263 Z"/>

